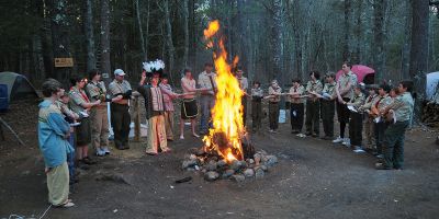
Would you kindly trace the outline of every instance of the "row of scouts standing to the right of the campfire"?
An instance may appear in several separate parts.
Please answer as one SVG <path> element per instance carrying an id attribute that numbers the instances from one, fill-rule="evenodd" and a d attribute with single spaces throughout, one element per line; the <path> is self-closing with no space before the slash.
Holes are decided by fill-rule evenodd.
<path id="1" fill-rule="evenodd" d="M 354 152 L 370 151 L 380 159 L 376 163 L 378 169 L 392 166 L 399 169 L 403 160 L 404 131 L 407 128 L 403 124 L 407 124 L 413 114 L 413 97 L 409 95 L 413 83 L 402 81 L 398 88 L 393 89 L 389 84 L 371 87 L 368 90 L 369 94 L 364 95 L 364 88 L 358 84 L 357 76 L 351 71 L 349 62 L 342 65 L 342 74 L 337 81 L 334 72 L 328 72 L 324 81 L 320 82 L 318 71 L 312 71 L 305 87 L 301 84 L 301 80 L 295 79 L 289 92 L 282 93 L 282 89 L 273 80 L 268 89 L 268 96 L 263 96 L 260 83 L 255 82 L 251 89 L 252 129 L 260 128 L 261 100 L 267 99 L 269 131 L 277 132 L 279 102 L 281 96 L 285 95 L 290 102 L 293 134 L 301 134 L 305 122 L 305 135 L 319 137 L 322 119 L 324 130 L 322 139 L 351 147 Z M 340 126 L 337 138 L 334 132 L 336 112 Z M 387 122 L 385 117 L 390 117 L 389 115 L 395 115 L 396 122 Z M 349 137 L 346 134 L 348 125 Z M 398 127 L 398 135 L 392 129 L 387 130 L 387 127 Z M 363 131 L 365 145 L 363 145 Z"/>

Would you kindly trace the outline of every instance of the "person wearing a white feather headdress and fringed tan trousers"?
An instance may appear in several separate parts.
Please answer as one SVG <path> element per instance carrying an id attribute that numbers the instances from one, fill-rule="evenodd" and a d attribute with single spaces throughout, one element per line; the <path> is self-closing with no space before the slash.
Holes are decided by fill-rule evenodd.
<path id="1" fill-rule="evenodd" d="M 165 101 L 161 89 L 158 85 L 165 64 L 161 60 L 144 62 L 144 72 L 138 87 L 138 92 L 145 99 L 145 115 L 148 120 L 148 136 L 146 141 L 146 154 L 156 155 L 159 152 L 170 152 L 168 148 L 165 128 Z M 147 78 L 150 83 L 145 84 Z"/>

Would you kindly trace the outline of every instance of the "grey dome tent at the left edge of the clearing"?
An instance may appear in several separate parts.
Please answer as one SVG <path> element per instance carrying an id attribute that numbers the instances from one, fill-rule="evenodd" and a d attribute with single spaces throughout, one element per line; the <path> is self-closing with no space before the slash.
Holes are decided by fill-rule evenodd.
<path id="1" fill-rule="evenodd" d="M 27 97 L 38 97 L 35 88 L 23 74 L 8 71 L 0 72 L 0 84 L 8 87 L 7 96 L 9 103 Z"/>

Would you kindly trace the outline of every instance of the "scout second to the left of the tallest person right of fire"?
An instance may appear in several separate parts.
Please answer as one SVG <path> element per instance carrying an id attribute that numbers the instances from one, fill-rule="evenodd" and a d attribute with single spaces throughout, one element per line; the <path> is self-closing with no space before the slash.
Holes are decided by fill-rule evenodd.
<path id="1" fill-rule="evenodd" d="M 319 81 L 320 73 L 318 71 L 312 71 L 309 73 L 311 80 L 306 84 L 306 93 L 308 99 L 306 100 L 306 132 L 307 136 L 318 137 L 320 132 L 320 102 L 318 95 L 322 93 L 323 84 Z"/>

